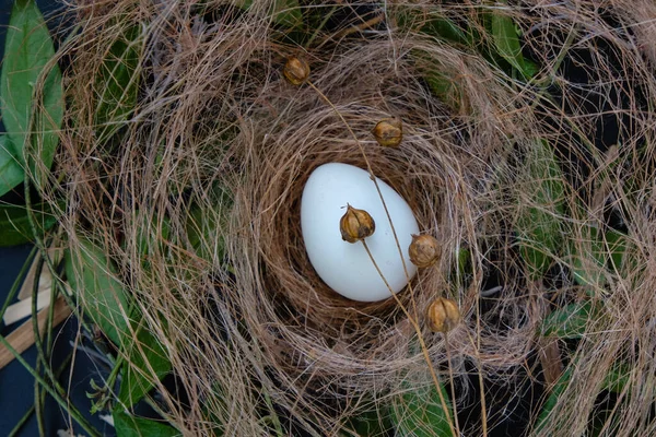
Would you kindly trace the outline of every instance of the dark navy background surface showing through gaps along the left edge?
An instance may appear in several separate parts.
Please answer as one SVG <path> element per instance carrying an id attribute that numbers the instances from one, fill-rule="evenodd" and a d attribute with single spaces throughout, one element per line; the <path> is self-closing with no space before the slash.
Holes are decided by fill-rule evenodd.
<path id="1" fill-rule="evenodd" d="M 37 4 L 45 15 L 50 31 L 57 33 L 62 32 L 62 20 L 57 13 L 60 3 L 52 0 L 37 0 Z M 9 24 L 12 5 L 13 0 L 0 0 L 0 59 L 2 59 L 4 52 L 4 34 L 7 32 L 7 25 Z M 1 122 L 0 131 L 3 131 Z M 13 200 L 11 193 L 8 193 L 0 199 L 0 201 L 8 200 Z M 4 303 L 4 299 L 31 249 L 31 245 L 21 245 L 10 248 L 0 247 L 0 305 Z M 0 321 L 0 332 L 2 335 L 7 335 L 21 324 L 22 321 L 5 327 Z M 51 355 L 52 368 L 59 367 L 69 352 L 72 351 L 70 341 L 74 339 L 77 331 L 78 323 L 73 318 L 69 318 L 67 322 L 60 324 L 56 330 L 58 334 Z M 34 366 L 36 362 L 36 351 L 34 346 L 25 351 L 23 357 L 30 365 Z M 72 378 L 69 380 L 71 371 Z M 91 378 L 94 378 L 96 382 L 101 383 L 102 377 L 106 375 L 105 369 L 98 368 L 98 366 L 83 352 L 78 352 L 72 366 L 69 366 L 60 377 L 60 382 L 65 390 L 69 390 L 70 397 L 78 410 L 87 415 L 87 418 L 96 429 L 106 436 L 114 436 L 115 433 L 112 426 L 102 422 L 97 417 L 97 414 L 94 416 L 89 414 L 91 402 L 85 394 L 85 392 L 92 391 L 91 386 L 89 385 Z M 8 366 L 0 369 L 0 437 L 7 436 L 33 404 L 34 378 L 17 361 L 14 359 Z M 68 418 L 66 411 L 63 411 L 52 398 L 46 398 L 44 411 L 46 436 L 57 436 L 58 429 L 68 429 L 71 426 L 71 421 Z M 72 423 L 72 426 L 75 436 L 79 434 L 85 435 L 78 424 Z M 38 436 L 38 427 L 34 415 L 21 429 L 19 436 Z"/>

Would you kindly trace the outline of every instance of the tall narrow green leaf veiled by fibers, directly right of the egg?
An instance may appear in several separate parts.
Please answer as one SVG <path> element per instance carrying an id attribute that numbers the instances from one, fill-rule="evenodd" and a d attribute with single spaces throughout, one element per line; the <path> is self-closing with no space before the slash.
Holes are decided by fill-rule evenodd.
<path id="1" fill-rule="evenodd" d="M 525 162 L 527 175 L 519 184 L 520 210 L 516 226 L 528 275 L 537 281 L 549 270 L 551 255 L 562 250 L 564 185 L 561 169 L 546 141 L 537 141 Z"/>

